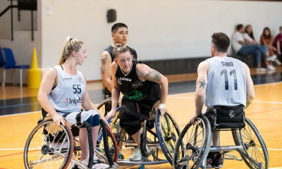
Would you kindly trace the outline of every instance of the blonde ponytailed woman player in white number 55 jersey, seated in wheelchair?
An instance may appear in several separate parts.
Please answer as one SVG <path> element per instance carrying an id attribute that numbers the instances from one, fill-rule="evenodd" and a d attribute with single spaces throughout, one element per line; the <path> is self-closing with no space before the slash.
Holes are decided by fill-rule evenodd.
<path id="1" fill-rule="evenodd" d="M 76 122 L 76 115 L 80 114 L 81 121 L 87 121 L 92 126 L 93 146 L 96 147 L 99 130 L 99 119 L 104 115 L 100 114 L 97 108 L 90 101 L 87 92 L 87 81 L 82 73 L 76 69 L 76 65 L 82 65 L 86 56 L 86 49 L 83 42 L 68 37 L 63 45 L 63 51 L 59 65 L 54 66 L 45 73 L 39 87 L 37 99 L 56 125 L 64 124 L 63 117 L 70 125 Z M 85 111 L 81 111 L 81 107 Z M 86 111 L 87 110 L 87 111 Z M 62 117 L 63 115 L 63 117 Z M 89 161 L 89 144 L 87 130 L 81 127 L 79 131 L 81 158 L 84 165 Z M 94 154 L 94 168 L 109 168 L 109 165 L 102 163 Z"/>

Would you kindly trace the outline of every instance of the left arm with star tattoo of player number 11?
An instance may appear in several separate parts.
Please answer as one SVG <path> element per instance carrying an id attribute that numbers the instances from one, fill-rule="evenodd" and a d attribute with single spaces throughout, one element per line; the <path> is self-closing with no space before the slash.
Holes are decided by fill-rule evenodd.
<path id="1" fill-rule="evenodd" d="M 196 113 L 190 119 L 190 123 L 192 123 L 192 125 L 195 125 L 195 119 L 202 114 L 202 107 L 204 106 L 204 99 L 206 98 L 207 73 L 209 72 L 209 63 L 207 61 L 202 61 L 198 66 L 197 72 L 198 77 L 195 92 Z"/>

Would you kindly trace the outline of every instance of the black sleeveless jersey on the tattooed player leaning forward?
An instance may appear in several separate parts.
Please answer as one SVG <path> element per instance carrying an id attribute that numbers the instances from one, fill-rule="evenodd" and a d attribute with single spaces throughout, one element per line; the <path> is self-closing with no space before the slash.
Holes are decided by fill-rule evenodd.
<path id="1" fill-rule="evenodd" d="M 161 90 L 158 83 L 145 80 L 141 82 L 136 73 L 136 65 L 141 61 L 133 61 L 133 67 L 127 75 L 118 66 L 116 79 L 123 96 L 134 101 L 158 101 L 161 99 Z"/>

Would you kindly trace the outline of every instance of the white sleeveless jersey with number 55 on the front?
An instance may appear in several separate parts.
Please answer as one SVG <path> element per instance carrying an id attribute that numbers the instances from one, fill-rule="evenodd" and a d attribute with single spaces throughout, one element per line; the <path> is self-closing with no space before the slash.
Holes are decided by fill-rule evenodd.
<path id="1" fill-rule="evenodd" d="M 72 113 L 80 111 L 82 96 L 85 93 L 85 79 L 83 74 L 77 70 L 76 75 L 66 73 L 61 65 L 54 68 L 58 75 L 58 84 L 51 90 L 48 98 L 56 111 Z"/>

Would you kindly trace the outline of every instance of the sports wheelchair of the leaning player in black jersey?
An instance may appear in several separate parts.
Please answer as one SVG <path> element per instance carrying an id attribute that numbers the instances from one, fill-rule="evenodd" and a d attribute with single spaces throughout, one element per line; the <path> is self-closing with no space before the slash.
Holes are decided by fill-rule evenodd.
<path id="1" fill-rule="evenodd" d="M 97 108 L 105 114 L 108 113 L 111 110 L 111 98 L 102 101 Z M 123 154 L 121 154 L 123 152 L 122 149 L 125 147 L 136 147 L 137 144 L 133 140 L 128 139 L 128 134 L 126 134 L 125 130 L 120 126 L 118 119 L 120 108 L 121 107 L 118 107 L 116 110 L 116 117 L 111 120 L 109 119 L 108 121 L 118 144 L 118 165 L 141 165 L 140 168 L 144 168 L 144 165 L 155 165 L 168 162 L 172 165 L 173 152 L 176 146 L 176 140 L 180 134 L 180 128 L 171 113 L 166 111 L 166 113 L 161 116 L 159 111 L 156 112 L 152 110 L 149 113 L 149 119 L 142 119 L 144 120 L 140 144 L 142 160 L 129 161 L 125 160 Z M 145 151 L 146 144 L 151 150 L 149 154 Z M 163 154 L 161 154 L 161 151 Z"/>

